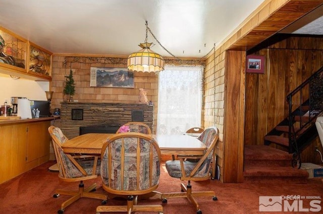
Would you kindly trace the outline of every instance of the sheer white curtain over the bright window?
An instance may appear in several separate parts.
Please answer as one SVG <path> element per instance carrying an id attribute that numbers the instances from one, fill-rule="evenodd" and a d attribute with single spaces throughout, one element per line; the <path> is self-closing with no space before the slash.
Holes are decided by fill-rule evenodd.
<path id="1" fill-rule="evenodd" d="M 158 74 L 157 133 L 201 126 L 202 66 L 165 66 Z"/>

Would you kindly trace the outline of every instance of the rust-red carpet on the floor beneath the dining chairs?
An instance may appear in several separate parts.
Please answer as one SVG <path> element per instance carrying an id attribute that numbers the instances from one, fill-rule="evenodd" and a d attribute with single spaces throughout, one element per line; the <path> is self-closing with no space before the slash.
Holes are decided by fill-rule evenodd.
<path id="1" fill-rule="evenodd" d="M 54 162 L 47 162 L 23 175 L 20 175 L 6 183 L 0 184 L 0 214 L 55 214 L 60 208 L 62 201 L 68 196 L 61 195 L 53 198 L 56 188 L 77 189 L 77 183 L 60 182 L 58 173 L 49 172 L 47 169 Z M 94 182 L 94 181 L 93 181 Z M 100 178 L 95 181 L 100 184 Z M 85 181 L 85 187 L 90 183 Z M 308 179 L 307 184 L 280 184 L 280 183 L 221 183 L 217 180 L 204 182 L 192 182 L 194 190 L 214 190 L 218 201 L 212 198 L 198 197 L 200 209 L 203 214 L 222 214 L 222 213 L 285 213 L 285 212 L 264 212 L 259 211 L 259 196 L 281 196 L 281 195 L 300 195 L 300 196 L 320 196 L 323 199 L 323 185 L 321 178 Z M 180 181 L 171 178 L 161 168 L 160 184 L 157 189 L 160 192 L 180 191 Z M 97 192 L 103 190 L 97 189 Z M 320 202 L 322 199 L 318 199 Z M 310 208 L 311 199 L 302 200 L 304 209 Z M 107 204 L 123 204 L 123 199 L 109 200 Z M 96 206 L 101 201 L 96 199 L 81 198 L 65 209 L 65 214 L 95 214 Z M 143 200 L 139 203 L 162 204 L 156 199 Z M 292 201 L 290 201 L 292 203 Z M 196 210 L 186 198 L 170 198 L 167 204 L 163 204 L 164 214 L 186 213 L 195 214 Z M 323 207 L 323 203 L 319 206 Z M 111 212 L 112 213 L 112 212 Z M 120 212 L 118 212 L 120 213 Z M 139 212 L 137 212 L 139 213 Z M 142 212 L 155 213 L 155 212 Z M 323 209 L 318 212 L 301 211 L 286 213 L 323 213 Z"/>

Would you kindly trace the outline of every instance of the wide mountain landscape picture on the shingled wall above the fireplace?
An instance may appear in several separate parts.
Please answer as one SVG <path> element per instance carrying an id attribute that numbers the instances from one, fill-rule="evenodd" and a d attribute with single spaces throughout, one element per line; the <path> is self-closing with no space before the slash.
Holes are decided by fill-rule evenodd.
<path id="1" fill-rule="evenodd" d="M 134 88 L 134 72 L 128 68 L 91 67 L 90 87 Z"/>

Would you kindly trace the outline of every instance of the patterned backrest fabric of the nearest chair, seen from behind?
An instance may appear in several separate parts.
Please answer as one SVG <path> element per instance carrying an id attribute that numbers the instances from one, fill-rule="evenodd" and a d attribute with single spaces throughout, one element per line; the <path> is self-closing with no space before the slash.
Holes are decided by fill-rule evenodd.
<path id="1" fill-rule="evenodd" d="M 101 178 L 105 186 L 115 190 L 144 190 L 157 185 L 160 175 L 160 162 L 155 147 L 151 147 L 151 142 L 145 139 L 139 139 L 140 155 L 137 156 L 138 149 L 137 137 L 123 137 L 112 141 L 103 153 L 101 161 Z M 121 152 L 124 150 L 125 157 L 122 160 Z M 150 151 L 152 150 L 152 160 L 150 160 Z M 111 165 L 109 165 L 109 156 L 111 156 Z M 140 159 L 139 166 L 137 159 Z M 124 171 L 121 171 L 124 161 Z M 152 183 L 149 182 L 150 165 L 152 164 Z M 137 180 L 137 169 L 139 168 L 139 180 Z M 111 180 L 109 180 L 109 171 L 111 171 Z M 121 181 L 123 175 L 123 182 Z M 137 188 L 137 181 L 139 188 Z M 123 183 L 123 186 L 122 186 Z"/>

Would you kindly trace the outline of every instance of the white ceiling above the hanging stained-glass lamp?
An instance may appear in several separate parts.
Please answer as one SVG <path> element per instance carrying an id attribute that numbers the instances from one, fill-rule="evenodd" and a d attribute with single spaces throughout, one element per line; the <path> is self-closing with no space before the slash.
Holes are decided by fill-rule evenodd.
<path id="1" fill-rule="evenodd" d="M 145 21 L 177 57 L 202 57 L 263 0 L 1 0 L 0 26 L 53 53 L 129 55 Z M 151 49 L 171 56 L 148 33 Z M 183 53 L 184 52 L 184 53 Z"/>

